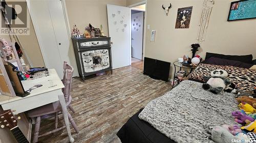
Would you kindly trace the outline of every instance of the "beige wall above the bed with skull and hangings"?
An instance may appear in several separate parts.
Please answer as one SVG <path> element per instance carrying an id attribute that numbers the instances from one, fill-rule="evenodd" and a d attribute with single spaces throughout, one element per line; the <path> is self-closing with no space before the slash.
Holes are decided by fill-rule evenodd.
<path id="1" fill-rule="evenodd" d="M 256 59 L 256 20 L 227 21 L 232 0 L 215 0 L 205 42 L 201 44 L 200 54 L 206 52 L 223 54 L 252 54 Z M 161 6 L 169 1 L 148 0 L 146 8 L 145 56 L 167 62 L 177 61 L 184 54 L 191 56 L 190 45 L 197 43 L 199 19 L 203 0 L 173 0 L 169 15 L 165 16 Z M 193 6 L 190 27 L 175 29 L 178 8 Z M 156 41 L 150 42 L 151 31 L 156 30 Z"/>

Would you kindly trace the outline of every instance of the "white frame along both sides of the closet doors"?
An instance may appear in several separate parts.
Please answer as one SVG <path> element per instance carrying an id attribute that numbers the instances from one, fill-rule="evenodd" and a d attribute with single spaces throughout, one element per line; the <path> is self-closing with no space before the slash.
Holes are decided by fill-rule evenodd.
<path id="1" fill-rule="evenodd" d="M 49 67 L 49 63 L 46 60 L 47 56 L 46 56 L 46 53 L 45 53 L 45 47 L 44 47 L 44 44 L 42 44 L 42 41 L 41 41 L 41 34 L 39 32 L 39 29 L 38 29 L 38 24 L 37 24 L 37 22 L 35 20 L 33 20 L 34 19 L 34 14 L 33 14 L 33 12 L 31 12 L 31 7 L 30 7 L 30 2 L 31 1 L 33 1 L 33 0 L 26 0 L 27 7 L 28 7 L 28 10 L 29 10 L 29 13 L 30 13 L 31 21 L 32 21 L 33 26 L 34 26 L 34 30 L 35 30 L 36 38 L 37 38 L 37 41 L 38 41 L 38 45 L 39 45 L 39 48 L 41 50 L 42 59 L 44 60 L 45 66 Z M 71 33 L 70 33 L 71 29 L 70 29 L 70 24 L 69 24 L 69 18 L 68 18 L 66 2 L 65 1 L 61 1 L 61 5 L 62 5 L 64 17 L 65 17 L 66 29 L 67 29 L 67 32 L 69 34 L 69 37 L 71 37 Z M 71 45 L 70 46 L 71 47 L 71 51 L 73 52 L 73 58 L 71 60 L 72 61 L 76 61 L 71 38 L 69 40 L 70 40 L 70 45 Z M 73 77 L 79 76 L 78 70 L 77 70 L 77 66 L 76 66 L 76 62 L 74 62 L 74 64 L 75 65 L 73 67 L 74 68 Z"/>

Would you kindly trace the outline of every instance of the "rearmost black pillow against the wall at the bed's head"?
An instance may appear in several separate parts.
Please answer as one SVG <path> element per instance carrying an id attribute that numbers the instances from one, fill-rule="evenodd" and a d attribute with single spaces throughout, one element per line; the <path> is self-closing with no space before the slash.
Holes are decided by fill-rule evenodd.
<path id="1" fill-rule="evenodd" d="M 206 52 L 205 59 L 208 59 L 211 57 L 240 61 L 240 62 L 244 62 L 244 63 L 248 63 L 248 64 L 252 63 L 252 54 L 249 54 L 249 55 L 225 55 L 225 54 Z"/>

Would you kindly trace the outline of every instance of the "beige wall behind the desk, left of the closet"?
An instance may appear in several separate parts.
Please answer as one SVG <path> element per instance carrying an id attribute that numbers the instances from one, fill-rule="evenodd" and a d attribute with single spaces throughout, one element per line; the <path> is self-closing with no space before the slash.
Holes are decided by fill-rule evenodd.
<path id="1" fill-rule="evenodd" d="M 8 4 L 8 1 L 12 1 L 12 0 L 6 0 L 7 4 Z M 22 0 L 22 1 L 25 1 L 25 0 Z M 1 18 L 2 18 L 2 13 L 1 13 Z M 31 18 L 30 17 L 28 18 L 30 21 L 30 35 L 18 35 L 18 38 L 20 43 L 22 44 L 22 47 L 25 49 L 27 56 L 30 62 L 32 63 L 33 67 L 44 67 L 45 63 L 44 63 L 44 60 L 42 59 L 41 50 L 38 45 L 38 41 L 34 31 L 34 26 L 31 21 Z M 8 35 L 0 35 L 0 37 L 8 41 L 11 41 Z M 28 64 L 27 61 L 26 63 Z"/>

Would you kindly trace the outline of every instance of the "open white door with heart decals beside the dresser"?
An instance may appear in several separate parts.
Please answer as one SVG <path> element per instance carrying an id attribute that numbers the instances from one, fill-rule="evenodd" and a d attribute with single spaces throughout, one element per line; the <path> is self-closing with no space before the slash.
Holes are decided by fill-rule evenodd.
<path id="1" fill-rule="evenodd" d="M 107 5 L 113 69 L 131 64 L 130 8 Z"/>

